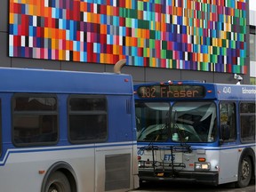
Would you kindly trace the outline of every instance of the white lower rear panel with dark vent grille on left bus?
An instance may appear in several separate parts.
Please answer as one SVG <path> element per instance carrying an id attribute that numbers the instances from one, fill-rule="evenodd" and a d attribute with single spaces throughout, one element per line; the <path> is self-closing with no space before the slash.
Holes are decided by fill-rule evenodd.
<path id="1" fill-rule="evenodd" d="M 95 152 L 95 191 L 128 190 L 133 186 L 132 148 L 116 146 L 97 148 Z"/>

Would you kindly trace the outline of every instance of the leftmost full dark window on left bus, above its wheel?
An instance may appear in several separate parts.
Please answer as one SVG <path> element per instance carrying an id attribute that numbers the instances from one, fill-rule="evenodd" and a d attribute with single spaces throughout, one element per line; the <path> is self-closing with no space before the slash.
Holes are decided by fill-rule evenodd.
<path id="1" fill-rule="evenodd" d="M 16 94 L 12 100 L 12 108 L 12 138 L 15 145 L 38 145 L 57 141 L 56 98 Z"/>

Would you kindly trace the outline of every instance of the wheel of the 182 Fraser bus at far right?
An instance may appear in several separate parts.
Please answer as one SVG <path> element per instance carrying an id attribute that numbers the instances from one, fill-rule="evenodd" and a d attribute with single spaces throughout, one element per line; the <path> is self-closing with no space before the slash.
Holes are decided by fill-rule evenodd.
<path id="1" fill-rule="evenodd" d="M 249 156 L 244 156 L 238 168 L 238 180 L 236 188 L 245 188 L 249 185 L 252 177 L 252 162 Z"/>

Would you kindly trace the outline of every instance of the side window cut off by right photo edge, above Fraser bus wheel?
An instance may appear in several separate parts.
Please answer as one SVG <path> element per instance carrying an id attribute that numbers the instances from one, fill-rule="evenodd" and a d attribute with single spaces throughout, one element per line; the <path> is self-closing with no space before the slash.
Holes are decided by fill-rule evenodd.
<path id="1" fill-rule="evenodd" d="M 241 141 L 255 140 L 255 103 L 240 103 Z"/>

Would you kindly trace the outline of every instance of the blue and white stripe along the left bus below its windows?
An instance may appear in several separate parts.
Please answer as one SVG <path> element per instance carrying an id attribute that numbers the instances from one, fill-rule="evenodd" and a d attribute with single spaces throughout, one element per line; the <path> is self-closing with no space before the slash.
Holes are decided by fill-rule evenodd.
<path id="1" fill-rule="evenodd" d="M 110 147 L 121 147 L 121 146 L 134 146 L 137 145 L 137 141 L 132 142 L 125 142 L 125 143 L 112 143 L 112 144 L 90 144 L 90 145 L 83 145 L 83 146 L 76 146 L 76 147 L 53 147 L 53 148 L 32 148 L 32 149 L 22 149 L 22 148 L 12 148 L 8 149 L 4 155 L 3 161 L 0 161 L 0 166 L 4 166 L 8 157 L 11 154 L 17 153 L 33 153 L 33 152 L 44 152 L 44 151 L 60 151 L 60 150 L 76 150 L 76 149 L 84 149 L 84 148 L 110 148 Z"/>

